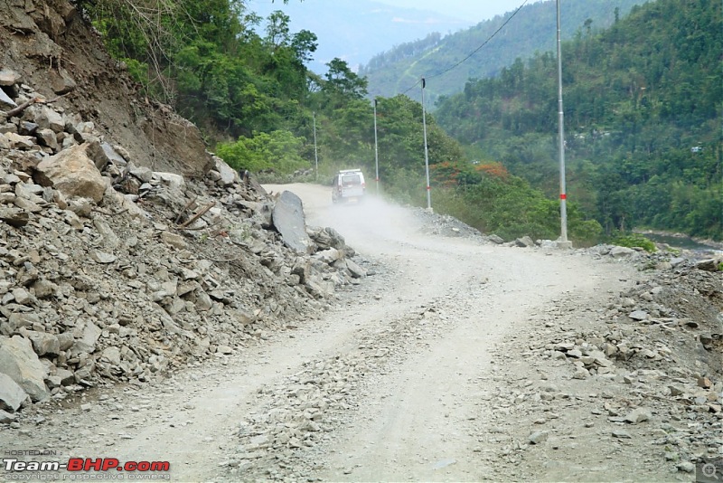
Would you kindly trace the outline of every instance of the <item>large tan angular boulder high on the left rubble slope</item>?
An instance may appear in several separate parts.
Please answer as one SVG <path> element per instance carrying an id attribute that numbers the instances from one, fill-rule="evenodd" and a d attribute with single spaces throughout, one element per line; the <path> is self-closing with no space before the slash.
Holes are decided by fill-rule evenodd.
<path id="1" fill-rule="evenodd" d="M 35 168 L 35 182 L 52 186 L 69 197 L 89 198 L 99 203 L 107 185 L 87 152 L 89 146 L 84 143 L 69 147 L 43 159 Z"/>

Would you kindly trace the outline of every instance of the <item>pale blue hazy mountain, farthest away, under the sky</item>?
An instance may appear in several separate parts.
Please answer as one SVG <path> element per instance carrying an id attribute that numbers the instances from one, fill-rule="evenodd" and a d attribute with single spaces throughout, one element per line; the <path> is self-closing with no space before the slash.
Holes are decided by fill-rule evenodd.
<path id="1" fill-rule="evenodd" d="M 292 33 L 302 29 L 318 37 L 318 49 L 308 68 L 326 71 L 325 64 L 338 57 L 356 71 L 364 62 L 401 43 L 424 37 L 427 33 L 452 33 L 473 22 L 426 10 L 398 8 L 383 2 L 354 0 L 249 0 L 248 9 L 266 18 L 281 10 L 291 18 Z"/>

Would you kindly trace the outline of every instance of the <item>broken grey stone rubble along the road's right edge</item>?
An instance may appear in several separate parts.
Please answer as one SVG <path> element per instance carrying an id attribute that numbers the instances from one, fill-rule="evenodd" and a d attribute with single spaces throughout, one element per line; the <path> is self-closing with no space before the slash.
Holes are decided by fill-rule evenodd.
<path id="1" fill-rule="evenodd" d="M 531 339 L 531 352 L 525 364 L 534 364 L 544 374 L 551 372 L 552 366 L 562 364 L 566 380 L 542 384 L 528 381 L 518 399 L 532 403 L 515 405 L 504 417 L 529 416 L 535 420 L 539 418 L 537 414 L 548 415 L 556 403 L 584 399 L 592 387 L 597 391 L 606 388 L 602 393 L 587 396 L 591 400 L 599 398 L 599 405 L 592 410 L 596 422 L 586 422 L 585 428 L 606 422 L 608 428 L 613 428 L 606 433 L 608 437 L 648 438 L 653 452 L 660 448 L 659 464 L 669 463 L 673 474 L 720 459 L 721 281 L 719 272 L 701 270 L 697 262 L 683 260 L 676 268 L 658 270 L 634 288 L 621 292 L 606 309 L 599 311 L 598 322 L 586 324 L 596 330 L 576 329 L 575 323 L 568 328 L 559 326 L 557 321 L 545 324 L 538 336 L 554 336 L 547 342 L 541 337 Z M 547 378 L 543 376 L 543 380 Z M 500 380 L 504 380 L 503 375 Z M 566 391 L 560 389 L 562 385 Z M 499 388 L 502 401 L 507 399 L 508 391 L 509 388 Z M 566 424 L 580 424 L 577 418 L 579 415 Z M 606 421 L 600 421 L 603 418 Z M 547 419 L 535 421 L 545 424 Z M 563 428 L 566 425 L 556 426 L 560 437 L 565 433 Z M 600 434 L 597 431 L 590 437 L 596 439 Z M 587 435 L 578 434 L 576 438 Z M 553 449 L 558 449 L 558 441 L 552 444 Z M 516 458 L 525 458 L 526 453 L 512 451 Z"/>

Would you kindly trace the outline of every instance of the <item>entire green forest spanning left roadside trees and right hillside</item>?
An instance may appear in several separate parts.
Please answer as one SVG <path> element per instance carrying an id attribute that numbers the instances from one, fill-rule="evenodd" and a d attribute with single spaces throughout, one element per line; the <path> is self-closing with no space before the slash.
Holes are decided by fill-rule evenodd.
<path id="1" fill-rule="evenodd" d="M 565 43 L 574 242 L 638 225 L 720 237 L 714 4 L 659 0 Z M 290 32 L 283 12 L 260 18 L 241 0 L 80 5 L 140 93 L 195 122 L 231 166 L 276 180 L 311 172 L 320 183 L 362 167 L 373 180 L 368 80 L 340 59 L 324 75 L 307 69 L 316 35 Z M 508 240 L 558 237 L 554 69 L 554 56 L 537 53 L 427 111 L 437 212 Z M 422 106 L 398 94 L 378 98 L 376 112 L 382 194 L 426 205 Z"/>

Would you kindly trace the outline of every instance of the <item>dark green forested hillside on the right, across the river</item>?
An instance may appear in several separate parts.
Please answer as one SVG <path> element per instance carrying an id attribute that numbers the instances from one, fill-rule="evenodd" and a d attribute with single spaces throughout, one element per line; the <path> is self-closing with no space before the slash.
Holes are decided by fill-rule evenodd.
<path id="1" fill-rule="evenodd" d="M 564 43 L 569 199 L 606 232 L 723 236 L 721 4 L 658 0 Z M 473 158 L 557 193 L 557 60 L 538 53 L 442 99 L 437 119 Z"/>

